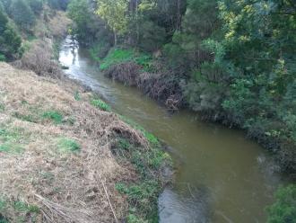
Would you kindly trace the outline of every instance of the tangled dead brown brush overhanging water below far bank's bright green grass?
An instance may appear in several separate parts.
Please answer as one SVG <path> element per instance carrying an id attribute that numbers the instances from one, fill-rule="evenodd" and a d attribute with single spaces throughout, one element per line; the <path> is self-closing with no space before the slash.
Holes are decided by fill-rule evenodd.
<path id="1" fill-rule="evenodd" d="M 177 111 L 185 103 L 178 78 L 170 74 L 144 72 L 143 67 L 126 62 L 110 67 L 105 75 L 125 85 L 138 87 L 152 99 L 164 103 L 171 111 Z"/>

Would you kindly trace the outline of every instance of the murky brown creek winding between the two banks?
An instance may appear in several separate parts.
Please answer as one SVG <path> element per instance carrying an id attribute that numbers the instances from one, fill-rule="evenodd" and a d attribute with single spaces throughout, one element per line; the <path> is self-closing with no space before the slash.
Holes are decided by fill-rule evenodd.
<path id="1" fill-rule="evenodd" d="M 199 120 L 196 113 L 172 115 L 137 89 L 109 80 L 70 37 L 59 56 L 68 76 L 90 85 L 115 112 L 171 148 L 177 171 L 159 199 L 161 223 L 266 222 L 265 207 L 283 179 L 262 147 L 239 130 Z"/>

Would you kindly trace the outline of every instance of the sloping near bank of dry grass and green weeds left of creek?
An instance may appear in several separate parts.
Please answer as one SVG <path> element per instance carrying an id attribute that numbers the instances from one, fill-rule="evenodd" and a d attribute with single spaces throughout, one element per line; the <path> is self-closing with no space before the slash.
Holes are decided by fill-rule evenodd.
<path id="1" fill-rule="evenodd" d="M 80 85 L 0 69 L 1 220 L 157 218 L 170 158 L 156 138 Z"/>

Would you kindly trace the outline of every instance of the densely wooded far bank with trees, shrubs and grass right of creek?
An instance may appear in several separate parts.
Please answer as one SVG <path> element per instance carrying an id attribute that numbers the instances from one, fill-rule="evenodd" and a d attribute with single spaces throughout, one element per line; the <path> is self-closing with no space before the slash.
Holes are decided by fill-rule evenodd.
<path id="1" fill-rule="evenodd" d="M 170 110 L 245 129 L 295 173 L 292 1 L 72 0 L 67 11 L 107 76 Z"/>

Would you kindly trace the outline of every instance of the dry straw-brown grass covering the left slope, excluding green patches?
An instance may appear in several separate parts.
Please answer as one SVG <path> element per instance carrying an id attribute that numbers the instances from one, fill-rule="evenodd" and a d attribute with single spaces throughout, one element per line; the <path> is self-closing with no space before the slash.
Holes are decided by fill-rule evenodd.
<path id="1" fill-rule="evenodd" d="M 0 73 L 0 129 L 17 129 L 19 136 L 13 143 L 22 147 L 20 153 L 0 149 L 0 199 L 38 206 L 37 222 L 116 222 L 114 215 L 123 218 L 126 198 L 115 191 L 114 184 L 130 180 L 135 173 L 132 167 L 117 163 L 110 146 L 115 135 L 122 134 L 145 147 L 144 136 L 116 114 L 92 107 L 90 93 L 79 85 L 36 76 L 5 63 L 0 63 Z M 76 91 L 80 101 L 74 99 Z M 74 121 L 57 125 L 40 118 L 45 111 L 58 111 L 64 120 Z M 33 122 L 22 117 L 31 117 Z M 59 138 L 74 139 L 81 150 L 59 150 Z M 0 138 L 0 146 L 3 143 Z M 31 213 L 15 211 L 13 205 L 0 209 L 0 219 L 16 222 L 21 217 L 24 222 L 33 221 Z"/>

